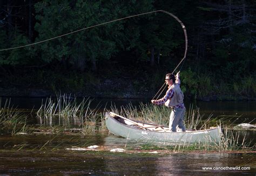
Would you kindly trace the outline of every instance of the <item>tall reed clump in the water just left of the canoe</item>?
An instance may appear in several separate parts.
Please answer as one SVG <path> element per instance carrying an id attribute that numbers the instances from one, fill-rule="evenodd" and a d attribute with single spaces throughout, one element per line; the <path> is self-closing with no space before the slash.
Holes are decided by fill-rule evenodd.
<path id="1" fill-rule="evenodd" d="M 42 101 L 37 117 L 42 125 L 58 125 L 60 128 L 77 126 L 83 129 L 83 134 L 104 131 L 104 112 L 99 112 L 99 104 L 91 109 L 91 102 L 89 98 L 84 98 L 78 103 L 76 97 L 57 94 L 56 100 L 50 97 L 45 102 Z"/>

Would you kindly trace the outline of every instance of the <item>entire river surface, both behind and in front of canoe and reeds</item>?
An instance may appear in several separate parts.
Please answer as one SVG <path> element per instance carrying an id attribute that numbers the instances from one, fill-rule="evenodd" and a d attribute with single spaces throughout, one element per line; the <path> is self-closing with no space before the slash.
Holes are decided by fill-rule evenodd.
<path id="1" fill-rule="evenodd" d="M 1 98 L 3 107 L 6 98 Z M 45 98 L 43 98 L 45 101 Z M 78 99 L 78 101 L 81 101 Z M 95 99 L 93 107 L 109 108 L 150 100 Z M 39 109 L 42 98 L 11 98 L 21 109 Z M 239 116 L 239 122 L 255 124 L 256 102 L 185 102 L 214 117 Z M 241 131 L 255 144 L 255 131 Z M 111 149 L 140 147 L 142 143 L 113 135 L 8 135 L 0 136 L 0 175 L 256 175 L 256 153 L 113 153 Z M 104 151 L 73 151 L 74 147 L 104 146 Z M 154 150 L 152 150 L 154 151 Z M 237 168 L 227 168 L 235 167 Z M 214 167 L 217 170 L 203 170 Z M 215 168 L 219 167 L 219 168 Z M 250 167 L 250 170 L 242 170 Z M 247 168 L 248 169 L 248 168 Z"/>

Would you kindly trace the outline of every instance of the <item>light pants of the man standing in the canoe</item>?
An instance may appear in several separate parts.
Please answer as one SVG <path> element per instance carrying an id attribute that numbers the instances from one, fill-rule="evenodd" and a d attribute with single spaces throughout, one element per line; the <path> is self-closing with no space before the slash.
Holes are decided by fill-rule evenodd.
<path id="1" fill-rule="evenodd" d="M 180 128 L 182 131 L 186 131 L 183 120 L 185 116 L 186 108 L 172 108 L 170 115 L 169 129 L 172 132 L 176 132 L 176 127 Z"/>

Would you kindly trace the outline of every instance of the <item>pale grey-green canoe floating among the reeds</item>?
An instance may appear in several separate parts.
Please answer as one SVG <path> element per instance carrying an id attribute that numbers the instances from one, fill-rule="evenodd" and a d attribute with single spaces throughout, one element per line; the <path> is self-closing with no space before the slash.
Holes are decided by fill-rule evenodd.
<path id="1" fill-rule="evenodd" d="M 133 121 L 113 112 L 106 112 L 105 119 L 107 129 L 114 135 L 147 142 L 218 144 L 222 134 L 220 126 L 205 130 L 172 132 L 166 126 Z"/>

